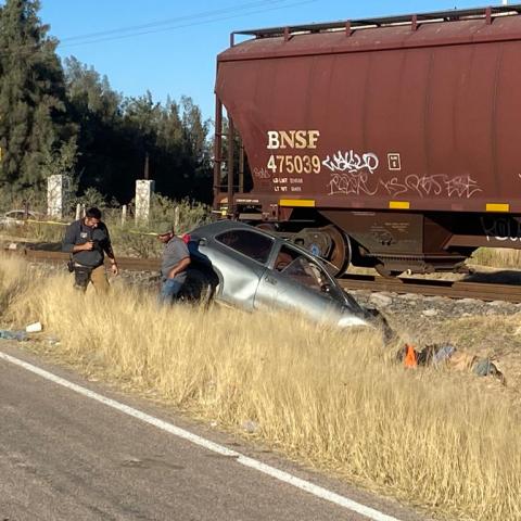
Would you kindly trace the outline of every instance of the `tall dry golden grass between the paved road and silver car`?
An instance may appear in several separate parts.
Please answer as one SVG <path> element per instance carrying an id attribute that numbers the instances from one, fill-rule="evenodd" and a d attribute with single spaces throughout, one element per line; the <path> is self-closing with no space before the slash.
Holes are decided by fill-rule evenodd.
<path id="1" fill-rule="evenodd" d="M 0 260 L 13 269 L 5 280 L 23 269 Z M 249 421 L 292 457 L 436 512 L 521 519 L 520 416 L 476 378 L 406 371 L 371 333 L 285 315 L 157 308 L 118 287 L 80 295 L 66 276 L 18 290 L 3 320 L 41 320 L 87 373 L 228 429 Z"/>

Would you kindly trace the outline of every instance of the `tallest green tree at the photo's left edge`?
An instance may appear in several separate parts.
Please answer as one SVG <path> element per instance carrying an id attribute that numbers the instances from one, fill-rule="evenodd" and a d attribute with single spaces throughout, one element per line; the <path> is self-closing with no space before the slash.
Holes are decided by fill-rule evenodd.
<path id="1" fill-rule="evenodd" d="M 4 189 L 41 187 L 48 158 L 64 145 L 75 147 L 58 41 L 47 36 L 49 27 L 40 22 L 38 10 L 38 0 L 8 0 L 0 9 L 0 186 Z"/>

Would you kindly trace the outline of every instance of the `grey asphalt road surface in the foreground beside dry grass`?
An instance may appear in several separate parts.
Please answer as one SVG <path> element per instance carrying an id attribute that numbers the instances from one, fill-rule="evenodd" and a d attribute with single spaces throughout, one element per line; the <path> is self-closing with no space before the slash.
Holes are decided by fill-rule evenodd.
<path id="1" fill-rule="evenodd" d="M 422 519 L 148 402 L 115 395 L 3 341 L 2 353 L 401 521 Z M 368 519 L 1 357 L 0 415 L 0 521 Z"/>

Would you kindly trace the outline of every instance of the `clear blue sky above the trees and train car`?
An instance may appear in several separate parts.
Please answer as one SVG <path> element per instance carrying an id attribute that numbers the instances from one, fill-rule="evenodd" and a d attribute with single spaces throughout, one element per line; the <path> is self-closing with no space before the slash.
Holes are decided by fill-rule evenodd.
<path id="1" fill-rule="evenodd" d="M 40 0 L 40 17 L 124 96 L 190 96 L 214 116 L 216 55 L 233 30 L 499 5 L 501 0 Z M 2 2 L 3 3 L 3 2 Z M 512 3 L 512 2 L 509 2 Z"/>

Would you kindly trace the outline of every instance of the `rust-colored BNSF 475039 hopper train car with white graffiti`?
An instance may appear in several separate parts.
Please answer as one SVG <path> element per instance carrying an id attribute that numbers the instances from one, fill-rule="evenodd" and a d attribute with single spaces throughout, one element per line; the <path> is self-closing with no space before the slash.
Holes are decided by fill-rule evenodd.
<path id="1" fill-rule="evenodd" d="M 215 209 L 339 272 L 457 270 L 479 246 L 521 247 L 520 13 L 232 34 L 217 58 Z"/>

